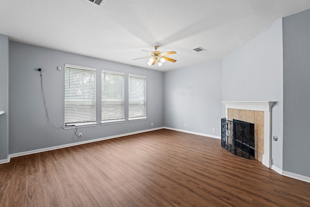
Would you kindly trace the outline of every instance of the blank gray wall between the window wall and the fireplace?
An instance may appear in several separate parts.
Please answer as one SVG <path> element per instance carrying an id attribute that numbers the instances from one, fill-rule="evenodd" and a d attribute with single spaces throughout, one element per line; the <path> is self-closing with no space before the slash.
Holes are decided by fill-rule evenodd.
<path id="1" fill-rule="evenodd" d="M 164 88 L 165 127 L 220 136 L 221 60 L 165 72 Z"/>

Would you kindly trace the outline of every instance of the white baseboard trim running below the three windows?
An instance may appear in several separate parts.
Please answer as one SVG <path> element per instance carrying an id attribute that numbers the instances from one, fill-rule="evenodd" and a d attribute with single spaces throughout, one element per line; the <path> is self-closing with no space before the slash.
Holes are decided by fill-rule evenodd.
<path id="1" fill-rule="evenodd" d="M 40 152 L 47 152 L 50 150 L 61 149 L 61 148 L 70 147 L 70 146 L 77 146 L 77 145 L 85 144 L 85 143 L 94 143 L 94 142 L 99 142 L 99 141 L 103 141 L 103 140 L 109 140 L 109 139 L 114 139 L 114 138 L 118 138 L 118 137 L 124 137 L 124 136 L 128 136 L 128 135 L 139 134 L 139 133 L 148 132 L 148 131 L 154 131 L 154 130 L 158 130 L 158 129 L 162 129 L 162 128 L 163 127 L 151 128 L 151 129 L 146 129 L 146 130 L 141 130 L 141 131 L 135 131 L 135 132 L 125 133 L 125 134 L 119 134 L 119 135 L 103 137 L 103 138 L 98 138 L 98 139 L 93 139 L 93 140 L 87 140 L 87 141 L 78 142 L 78 143 L 62 144 L 62 145 L 58 145 L 58 146 L 52 146 L 52 147 L 47 147 L 47 148 L 42 148 L 42 149 L 35 149 L 35 150 L 31 150 L 31 151 L 26 151 L 26 152 L 18 152 L 18 153 L 10 154 L 9 158 L 16 158 L 16 157 L 20 157 L 20 156 L 24 156 L 24 155 L 31 155 L 31 154 L 40 153 Z M 10 159 L 8 160 L 8 162 L 10 162 Z M 3 163 L 5 163 L 5 162 L 3 162 Z"/>

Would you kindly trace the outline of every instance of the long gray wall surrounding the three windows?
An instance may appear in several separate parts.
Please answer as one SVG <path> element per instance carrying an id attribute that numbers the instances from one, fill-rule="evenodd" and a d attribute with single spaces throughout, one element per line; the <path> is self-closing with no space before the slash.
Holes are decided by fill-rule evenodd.
<path id="1" fill-rule="evenodd" d="M 41 95 L 42 68 L 44 93 L 48 115 L 56 127 L 64 122 L 64 64 L 96 68 L 96 119 L 95 127 L 82 127 L 82 137 L 73 136 L 74 129 L 53 130 L 47 125 Z M 57 66 L 62 66 L 58 71 Z M 128 74 L 147 77 L 147 120 L 100 125 L 101 70 L 125 73 L 125 118 L 128 118 Z M 10 42 L 10 154 L 45 147 L 58 146 L 97 138 L 104 138 L 150 128 L 163 127 L 163 72 L 113 63 L 100 59 Z M 154 123 L 151 126 L 151 122 Z"/>

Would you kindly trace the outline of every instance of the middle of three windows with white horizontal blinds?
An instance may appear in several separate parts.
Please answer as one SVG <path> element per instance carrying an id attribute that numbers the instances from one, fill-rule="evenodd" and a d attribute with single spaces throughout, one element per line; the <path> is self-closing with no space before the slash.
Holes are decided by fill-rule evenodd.
<path id="1" fill-rule="evenodd" d="M 102 70 L 101 124 L 124 121 L 124 73 Z"/>

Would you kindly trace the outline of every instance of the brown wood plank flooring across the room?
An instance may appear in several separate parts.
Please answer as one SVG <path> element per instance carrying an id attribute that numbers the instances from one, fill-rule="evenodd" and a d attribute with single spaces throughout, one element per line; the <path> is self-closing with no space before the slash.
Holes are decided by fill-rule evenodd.
<path id="1" fill-rule="evenodd" d="M 0 165 L 1 207 L 310 206 L 310 183 L 168 129 Z"/>

